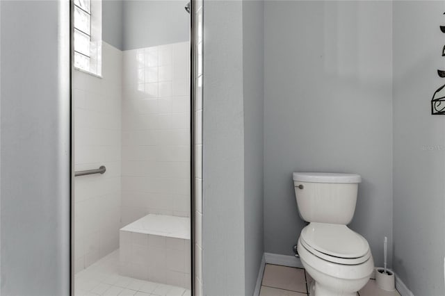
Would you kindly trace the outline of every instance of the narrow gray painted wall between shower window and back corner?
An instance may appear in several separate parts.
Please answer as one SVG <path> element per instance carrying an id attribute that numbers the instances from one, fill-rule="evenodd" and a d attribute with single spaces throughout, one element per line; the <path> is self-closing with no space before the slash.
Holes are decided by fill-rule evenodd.
<path id="1" fill-rule="evenodd" d="M 122 0 L 102 0 L 102 40 L 120 50 L 124 49 L 123 9 Z"/>

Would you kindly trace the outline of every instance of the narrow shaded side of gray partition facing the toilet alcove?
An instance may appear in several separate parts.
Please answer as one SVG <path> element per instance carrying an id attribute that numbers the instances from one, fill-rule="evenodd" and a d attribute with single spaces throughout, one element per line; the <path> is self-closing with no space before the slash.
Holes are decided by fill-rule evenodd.
<path id="1" fill-rule="evenodd" d="M 264 253 L 264 2 L 243 1 L 245 295 Z"/>

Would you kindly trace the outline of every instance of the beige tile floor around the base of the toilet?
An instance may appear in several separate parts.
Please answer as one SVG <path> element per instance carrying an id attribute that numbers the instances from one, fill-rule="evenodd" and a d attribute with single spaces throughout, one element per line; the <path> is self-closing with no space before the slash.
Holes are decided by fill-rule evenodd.
<path id="1" fill-rule="evenodd" d="M 266 264 L 263 281 L 261 282 L 260 296 L 306 296 L 313 279 L 301 268 L 288 268 L 286 266 Z M 388 292 L 378 288 L 373 279 L 359 290 L 359 296 L 401 296 L 397 290 Z"/>

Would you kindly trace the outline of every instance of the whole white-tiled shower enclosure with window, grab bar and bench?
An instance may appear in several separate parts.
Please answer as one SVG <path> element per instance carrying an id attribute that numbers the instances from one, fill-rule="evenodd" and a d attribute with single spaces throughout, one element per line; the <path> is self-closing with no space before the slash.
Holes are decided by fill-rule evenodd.
<path id="1" fill-rule="evenodd" d="M 72 2 L 74 295 L 191 295 L 195 10 Z"/>

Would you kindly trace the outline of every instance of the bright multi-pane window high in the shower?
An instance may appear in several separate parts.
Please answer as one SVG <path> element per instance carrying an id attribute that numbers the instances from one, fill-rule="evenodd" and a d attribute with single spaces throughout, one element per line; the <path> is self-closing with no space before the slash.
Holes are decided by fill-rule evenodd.
<path id="1" fill-rule="evenodd" d="M 74 67 L 102 74 L 102 2 L 74 0 Z"/>

